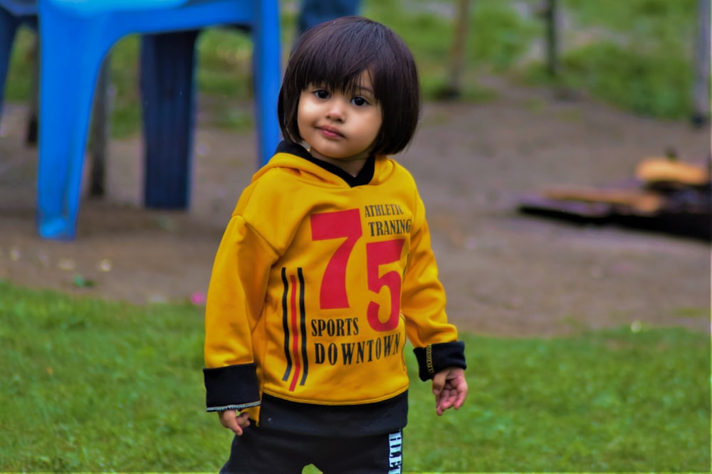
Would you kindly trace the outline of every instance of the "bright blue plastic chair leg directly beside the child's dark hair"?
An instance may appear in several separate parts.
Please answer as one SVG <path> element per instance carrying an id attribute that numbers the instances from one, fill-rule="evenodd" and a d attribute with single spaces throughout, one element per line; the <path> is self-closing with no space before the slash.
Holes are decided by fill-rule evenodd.
<path id="1" fill-rule="evenodd" d="M 280 140 L 276 104 L 282 78 L 281 43 L 275 33 L 280 31 L 278 2 L 255 4 L 263 10 L 260 15 L 263 21 L 257 22 L 252 32 L 257 156 L 258 166 L 263 166 Z"/>

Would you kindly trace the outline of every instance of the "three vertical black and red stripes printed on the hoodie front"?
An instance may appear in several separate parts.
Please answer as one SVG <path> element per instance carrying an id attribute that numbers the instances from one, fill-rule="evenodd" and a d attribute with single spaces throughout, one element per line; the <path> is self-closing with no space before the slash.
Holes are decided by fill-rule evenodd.
<path id="1" fill-rule="evenodd" d="M 297 268 L 297 275 L 288 275 L 282 268 L 282 329 L 284 332 L 284 356 L 286 369 L 283 381 L 289 381 L 289 390 L 297 384 L 306 383 L 309 362 L 307 359 L 306 312 L 304 306 L 304 275 Z"/>

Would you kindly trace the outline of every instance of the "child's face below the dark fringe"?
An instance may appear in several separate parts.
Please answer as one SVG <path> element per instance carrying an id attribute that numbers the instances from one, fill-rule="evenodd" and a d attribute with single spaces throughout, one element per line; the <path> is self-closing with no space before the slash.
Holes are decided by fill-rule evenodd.
<path id="1" fill-rule="evenodd" d="M 367 71 L 361 73 L 354 95 L 310 84 L 297 109 L 299 135 L 313 157 L 356 174 L 371 152 L 381 129 L 381 105 L 373 95 Z"/>

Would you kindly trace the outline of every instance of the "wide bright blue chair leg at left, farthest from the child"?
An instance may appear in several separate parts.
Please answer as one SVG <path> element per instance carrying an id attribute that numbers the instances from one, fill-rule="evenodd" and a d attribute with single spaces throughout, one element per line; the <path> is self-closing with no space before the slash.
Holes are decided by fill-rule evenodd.
<path id="1" fill-rule="evenodd" d="M 101 28 L 43 11 L 41 37 L 56 38 L 40 45 L 37 227 L 43 238 L 71 240 L 76 234 L 91 102 L 105 53 L 97 40 Z"/>

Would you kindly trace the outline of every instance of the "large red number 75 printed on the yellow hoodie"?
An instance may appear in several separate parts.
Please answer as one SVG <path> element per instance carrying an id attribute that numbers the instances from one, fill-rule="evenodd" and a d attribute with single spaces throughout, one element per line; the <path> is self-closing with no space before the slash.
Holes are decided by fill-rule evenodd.
<path id="1" fill-rule="evenodd" d="M 326 265 L 321 280 L 319 302 L 322 309 L 350 307 L 346 292 L 346 266 L 356 242 L 362 236 L 359 210 L 349 209 L 314 214 L 311 216 L 311 231 L 314 241 L 345 238 Z M 400 260 L 403 243 L 404 239 L 396 238 L 366 244 L 368 289 L 373 293 L 380 293 L 383 287 L 387 287 L 391 300 L 389 316 L 385 322 L 382 322 L 378 317 L 380 305 L 375 301 L 370 301 L 368 304 L 368 322 L 377 331 L 390 331 L 398 326 L 401 276 L 394 270 L 380 276 L 379 267 Z"/>

